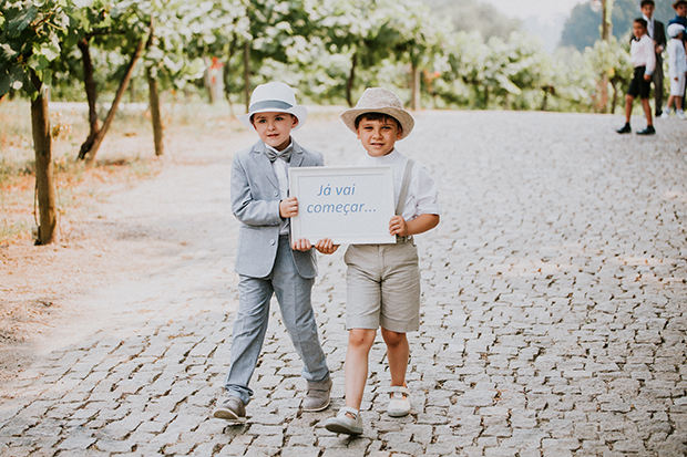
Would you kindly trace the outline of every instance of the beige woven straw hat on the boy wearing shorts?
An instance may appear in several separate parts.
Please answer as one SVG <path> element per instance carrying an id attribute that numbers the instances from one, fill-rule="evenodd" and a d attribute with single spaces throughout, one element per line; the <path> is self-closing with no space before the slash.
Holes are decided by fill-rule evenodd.
<path id="1" fill-rule="evenodd" d="M 416 125 L 409 112 L 403 110 L 401 98 L 393 92 L 383 87 L 368 87 L 365 90 L 356 107 L 346 110 L 341 113 L 341 121 L 351 132 L 358 133 L 356 129 L 356 118 L 365 113 L 382 113 L 388 114 L 401 124 L 401 137 L 403 139 Z"/>

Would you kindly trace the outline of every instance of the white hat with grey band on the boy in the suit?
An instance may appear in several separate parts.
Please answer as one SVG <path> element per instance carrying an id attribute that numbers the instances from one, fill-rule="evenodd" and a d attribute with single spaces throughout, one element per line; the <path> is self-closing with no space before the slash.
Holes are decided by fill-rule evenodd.
<path id="1" fill-rule="evenodd" d="M 300 128 L 308 117 L 308 110 L 305 106 L 296 104 L 296 95 L 294 90 L 284 83 L 267 83 L 255 87 L 250 95 L 250 105 L 247 114 L 242 114 L 238 121 L 247 127 L 253 128 L 250 116 L 256 113 L 288 113 L 298 118 L 298 125 L 295 131 Z"/>

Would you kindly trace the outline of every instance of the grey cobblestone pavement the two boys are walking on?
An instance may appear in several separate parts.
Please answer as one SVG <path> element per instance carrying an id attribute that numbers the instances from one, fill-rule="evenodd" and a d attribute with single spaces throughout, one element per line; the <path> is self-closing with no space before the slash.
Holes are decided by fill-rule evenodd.
<path id="1" fill-rule="evenodd" d="M 360 153 L 336 118 L 308 122 L 296 136 L 329 165 Z M 101 325 L 3 386 L 0 455 L 687 455 L 687 123 L 658 120 L 649 138 L 618 136 L 619 124 L 418 115 L 399 148 L 434 176 L 444 214 L 418 237 L 413 411 L 384 413 L 378 339 L 356 439 L 318 425 L 344 404 L 342 252 L 320 257 L 314 300 L 332 406 L 299 408 L 300 363 L 275 311 L 247 424 L 209 417 L 236 309 L 230 156 L 167 167 L 117 196 L 107 221 L 133 227 L 144 253 L 151 238 L 170 249 L 150 252 L 158 268 L 140 279 L 84 297 Z"/>

